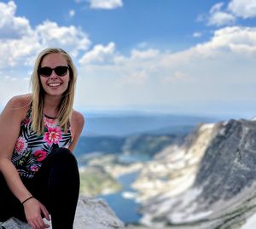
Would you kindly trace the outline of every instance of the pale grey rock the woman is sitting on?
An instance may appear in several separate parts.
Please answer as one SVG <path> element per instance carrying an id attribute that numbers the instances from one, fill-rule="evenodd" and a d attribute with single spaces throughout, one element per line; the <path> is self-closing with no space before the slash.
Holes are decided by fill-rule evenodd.
<path id="1" fill-rule="evenodd" d="M 65 220 L 65 219 L 63 219 Z M 0 223 L 1 225 L 1 223 Z M 2 224 L 6 229 L 31 229 L 28 224 L 11 218 Z M 0 227 L 1 228 L 1 227 Z M 74 229 L 119 229 L 124 224 L 102 199 L 80 196 L 74 220 Z"/>

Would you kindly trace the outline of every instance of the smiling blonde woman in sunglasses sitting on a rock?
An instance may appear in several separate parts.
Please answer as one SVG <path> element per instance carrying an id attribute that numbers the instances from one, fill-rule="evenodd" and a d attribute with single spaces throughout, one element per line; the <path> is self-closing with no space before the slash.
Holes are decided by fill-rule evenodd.
<path id="1" fill-rule="evenodd" d="M 32 72 L 32 94 L 9 100 L 0 115 L 0 221 L 32 228 L 73 228 L 79 170 L 73 149 L 84 117 L 73 110 L 77 72 L 62 49 L 44 49 Z"/>

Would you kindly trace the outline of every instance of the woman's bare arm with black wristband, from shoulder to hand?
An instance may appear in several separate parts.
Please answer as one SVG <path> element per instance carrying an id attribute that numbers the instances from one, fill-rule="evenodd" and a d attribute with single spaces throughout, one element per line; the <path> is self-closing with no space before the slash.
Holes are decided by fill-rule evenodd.
<path id="1" fill-rule="evenodd" d="M 14 193 L 21 203 L 32 197 L 32 193 L 26 189 L 26 186 L 20 180 L 20 175 L 15 165 L 11 162 L 11 157 L 15 148 L 15 141 L 20 134 L 20 123 L 28 109 L 26 100 L 26 98 L 20 96 L 9 100 L 0 115 L 0 172 L 3 174 L 10 191 Z M 39 203 L 35 198 L 31 198 L 23 205 L 26 220 L 33 228 L 48 227 L 41 217 L 41 212 L 43 212 L 44 216 L 49 219 L 47 209 L 42 203 Z"/>

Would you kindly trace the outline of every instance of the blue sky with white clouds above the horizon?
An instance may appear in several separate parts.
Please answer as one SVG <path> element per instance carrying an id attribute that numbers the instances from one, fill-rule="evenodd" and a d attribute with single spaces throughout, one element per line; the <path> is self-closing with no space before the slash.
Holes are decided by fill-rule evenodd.
<path id="1" fill-rule="evenodd" d="M 0 1 L 0 106 L 65 49 L 75 109 L 256 116 L 256 0 Z"/>

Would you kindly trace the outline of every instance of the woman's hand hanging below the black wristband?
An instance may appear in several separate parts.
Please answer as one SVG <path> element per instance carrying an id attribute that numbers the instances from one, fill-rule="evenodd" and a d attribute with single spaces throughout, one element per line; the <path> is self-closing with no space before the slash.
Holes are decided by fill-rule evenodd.
<path id="1" fill-rule="evenodd" d="M 44 223 L 41 213 L 47 220 L 49 219 L 49 213 L 44 207 L 44 204 L 40 203 L 36 198 L 31 198 L 23 203 L 26 220 L 30 226 L 34 229 L 48 228 L 49 225 Z"/>

